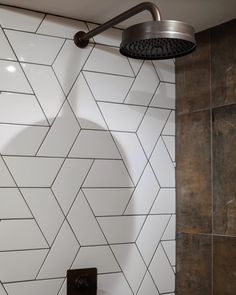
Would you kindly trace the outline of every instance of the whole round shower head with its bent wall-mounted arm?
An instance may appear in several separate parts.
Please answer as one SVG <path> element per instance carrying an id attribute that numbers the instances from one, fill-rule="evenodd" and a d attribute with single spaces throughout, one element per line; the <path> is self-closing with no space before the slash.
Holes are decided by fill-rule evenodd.
<path id="1" fill-rule="evenodd" d="M 88 33 L 77 32 L 74 42 L 80 48 L 86 47 L 90 38 L 144 10 L 151 13 L 153 21 L 140 23 L 123 31 L 121 54 L 136 59 L 156 60 L 176 58 L 194 51 L 196 40 L 193 27 L 180 21 L 161 20 L 158 7 L 151 2 L 134 6 Z"/>

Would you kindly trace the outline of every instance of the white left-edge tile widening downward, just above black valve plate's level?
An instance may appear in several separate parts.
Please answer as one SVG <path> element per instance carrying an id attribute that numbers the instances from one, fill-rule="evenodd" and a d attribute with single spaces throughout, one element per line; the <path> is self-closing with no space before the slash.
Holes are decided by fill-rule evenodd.
<path id="1" fill-rule="evenodd" d="M 0 236 L 0 251 L 48 247 L 40 229 L 32 219 L 2 220 Z"/>

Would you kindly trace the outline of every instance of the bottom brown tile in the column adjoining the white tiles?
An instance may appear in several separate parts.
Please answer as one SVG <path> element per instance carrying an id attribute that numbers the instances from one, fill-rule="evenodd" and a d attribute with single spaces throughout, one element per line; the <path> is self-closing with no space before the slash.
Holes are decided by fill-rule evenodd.
<path id="1" fill-rule="evenodd" d="M 211 235 L 178 234 L 176 295 L 211 295 L 211 278 Z"/>

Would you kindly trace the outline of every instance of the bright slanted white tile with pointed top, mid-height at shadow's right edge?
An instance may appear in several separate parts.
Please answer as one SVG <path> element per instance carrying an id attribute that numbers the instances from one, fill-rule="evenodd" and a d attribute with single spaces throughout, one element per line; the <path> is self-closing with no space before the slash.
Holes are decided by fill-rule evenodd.
<path id="1" fill-rule="evenodd" d="M 156 177 L 148 164 L 135 188 L 125 214 L 148 214 L 158 190 L 159 185 Z"/>

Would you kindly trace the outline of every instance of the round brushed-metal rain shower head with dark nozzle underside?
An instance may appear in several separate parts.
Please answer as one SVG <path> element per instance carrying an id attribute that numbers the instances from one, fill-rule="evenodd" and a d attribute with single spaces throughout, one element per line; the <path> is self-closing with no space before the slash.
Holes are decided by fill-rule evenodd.
<path id="1" fill-rule="evenodd" d="M 123 31 L 120 53 L 130 58 L 158 60 L 180 57 L 195 48 L 190 25 L 164 20 L 137 24 Z"/>

